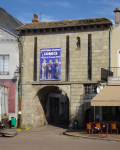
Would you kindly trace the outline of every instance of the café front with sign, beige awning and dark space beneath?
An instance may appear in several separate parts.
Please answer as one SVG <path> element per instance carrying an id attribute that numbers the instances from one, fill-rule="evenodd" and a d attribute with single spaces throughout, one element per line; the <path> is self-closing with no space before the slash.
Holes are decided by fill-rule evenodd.
<path id="1" fill-rule="evenodd" d="M 120 121 L 120 77 L 108 77 L 108 84 L 91 100 L 91 106 L 101 107 L 98 118 L 102 121 Z"/>

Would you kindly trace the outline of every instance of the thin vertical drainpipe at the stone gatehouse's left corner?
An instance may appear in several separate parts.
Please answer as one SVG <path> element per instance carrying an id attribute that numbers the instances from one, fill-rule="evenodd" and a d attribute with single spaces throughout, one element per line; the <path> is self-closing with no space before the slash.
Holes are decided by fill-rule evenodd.
<path id="1" fill-rule="evenodd" d="M 23 67 L 23 44 L 21 44 L 21 78 L 20 78 L 20 101 L 19 101 L 19 128 L 21 128 L 21 100 L 22 100 L 22 67 Z"/>

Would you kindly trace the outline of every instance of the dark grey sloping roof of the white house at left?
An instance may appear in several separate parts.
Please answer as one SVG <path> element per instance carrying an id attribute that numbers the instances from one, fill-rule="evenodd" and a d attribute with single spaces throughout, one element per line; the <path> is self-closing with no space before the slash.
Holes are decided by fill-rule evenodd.
<path id="1" fill-rule="evenodd" d="M 6 30 L 18 35 L 19 32 L 16 30 L 19 26 L 23 25 L 20 21 L 10 15 L 7 11 L 0 7 L 0 26 Z"/>

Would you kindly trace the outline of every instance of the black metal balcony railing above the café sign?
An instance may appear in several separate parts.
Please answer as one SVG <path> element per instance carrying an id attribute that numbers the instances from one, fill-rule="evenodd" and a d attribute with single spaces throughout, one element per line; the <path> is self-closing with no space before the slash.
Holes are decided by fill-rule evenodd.
<path id="1" fill-rule="evenodd" d="M 120 67 L 101 68 L 101 80 L 107 81 L 109 76 L 120 76 Z"/>

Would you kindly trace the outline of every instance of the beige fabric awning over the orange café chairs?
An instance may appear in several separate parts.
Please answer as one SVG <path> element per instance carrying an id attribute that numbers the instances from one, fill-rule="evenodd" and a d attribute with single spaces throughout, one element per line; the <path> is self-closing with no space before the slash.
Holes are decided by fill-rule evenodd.
<path id="1" fill-rule="evenodd" d="M 120 86 L 105 86 L 91 100 L 91 106 L 120 106 Z"/>

